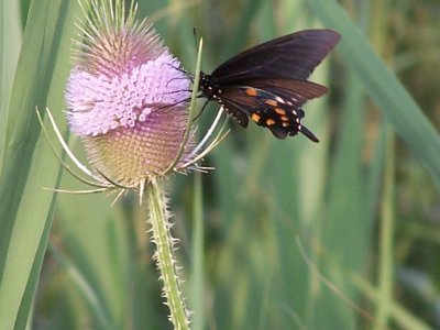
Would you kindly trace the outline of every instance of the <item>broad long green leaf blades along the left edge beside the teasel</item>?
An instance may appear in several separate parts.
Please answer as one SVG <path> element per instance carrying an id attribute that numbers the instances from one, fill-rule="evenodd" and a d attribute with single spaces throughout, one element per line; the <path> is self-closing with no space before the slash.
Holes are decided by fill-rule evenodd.
<path id="1" fill-rule="evenodd" d="M 0 329 L 24 328 L 51 228 L 53 194 L 43 187 L 55 186 L 59 164 L 40 136 L 35 108 L 44 109 L 47 98 L 64 107 L 70 3 L 31 3 L 11 90 L 0 176 Z"/>

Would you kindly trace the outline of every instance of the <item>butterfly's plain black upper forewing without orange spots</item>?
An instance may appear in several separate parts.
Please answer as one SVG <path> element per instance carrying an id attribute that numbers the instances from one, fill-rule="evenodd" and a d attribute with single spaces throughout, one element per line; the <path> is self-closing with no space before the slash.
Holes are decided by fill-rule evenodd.
<path id="1" fill-rule="evenodd" d="M 339 38 L 331 30 L 306 30 L 280 36 L 224 62 L 211 77 L 222 87 L 243 78 L 306 80 Z"/>

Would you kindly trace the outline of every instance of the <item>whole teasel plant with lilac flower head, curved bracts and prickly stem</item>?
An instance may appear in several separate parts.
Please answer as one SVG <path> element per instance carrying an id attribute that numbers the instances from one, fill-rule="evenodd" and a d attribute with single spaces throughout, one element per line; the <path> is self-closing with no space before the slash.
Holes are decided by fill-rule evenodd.
<path id="1" fill-rule="evenodd" d="M 125 10 L 123 0 L 78 1 L 86 20 L 78 25 L 74 67 L 67 80 L 67 119 L 70 131 L 86 146 L 91 169 L 70 151 L 48 109 L 47 116 L 64 151 L 87 178 L 62 157 L 59 161 L 92 189 L 56 191 L 119 191 L 114 201 L 129 189 L 139 193 L 140 202 L 146 201 L 148 208 L 151 240 L 156 245 L 154 258 L 164 284 L 169 319 L 175 329 L 189 329 L 190 312 L 180 292 L 174 256 L 176 240 L 170 233 L 173 226 L 162 178 L 172 172 L 209 169 L 198 162 L 228 134 L 227 119 L 219 129 L 220 109 L 205 136 L 198 144 L 195 142 L 201 41 L 196 74 L 190 76 L 151 24 L 135 20 L 133 2 Z M 50 136 L 38 111 L 37 116 L 43 132 Z"/>

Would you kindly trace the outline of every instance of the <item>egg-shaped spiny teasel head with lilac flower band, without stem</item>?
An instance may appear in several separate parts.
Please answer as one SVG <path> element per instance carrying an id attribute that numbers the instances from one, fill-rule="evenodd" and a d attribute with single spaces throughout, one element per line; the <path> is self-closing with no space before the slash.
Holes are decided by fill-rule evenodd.
<path id="1" fill-rule="evenodd" d="M 136 8 L 80 1 L 87 15 L 67 81 L 70 131 L 103 180 L 139 188 L 196 158 L 184 141 L 190 79 Z M 185 145 L 183 145 L 185 144 Z"/>

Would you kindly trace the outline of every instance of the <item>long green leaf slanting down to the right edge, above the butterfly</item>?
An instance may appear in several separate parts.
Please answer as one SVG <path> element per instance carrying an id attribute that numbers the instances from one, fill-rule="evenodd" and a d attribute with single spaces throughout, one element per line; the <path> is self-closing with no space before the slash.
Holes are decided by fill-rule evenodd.
<path id="1" fill-rule="evenodd" d="M 339 53 L 344 63 L 358 73 L 387 121 L 440 186 L 440 135 L 433 125 L 337 1 L 308 3 L 327 28 L 342 35 Z"/>

